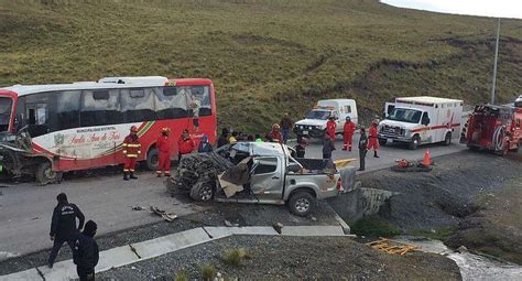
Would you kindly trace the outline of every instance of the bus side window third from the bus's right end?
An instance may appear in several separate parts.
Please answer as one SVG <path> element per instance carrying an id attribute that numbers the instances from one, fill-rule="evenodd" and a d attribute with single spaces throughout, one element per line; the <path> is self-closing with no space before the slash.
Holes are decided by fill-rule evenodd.
<path id="1" fill-rule="evenodd" d="M 120 95 L 121 111 L 123 112 L 124 122 L 130 123 L 154 120 L 153 89 L 121 89 Z"/>

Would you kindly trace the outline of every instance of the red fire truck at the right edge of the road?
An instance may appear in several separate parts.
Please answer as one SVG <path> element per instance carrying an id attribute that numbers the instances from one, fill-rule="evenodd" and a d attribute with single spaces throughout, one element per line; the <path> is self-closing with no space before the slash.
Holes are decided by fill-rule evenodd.
<path id="1" fill-rule="evenodd" d="M 460 142 L 470 150 L 490 150 L 505 155 L 522 145 L 522 108 L 476 106 L 461 133 Z"/>

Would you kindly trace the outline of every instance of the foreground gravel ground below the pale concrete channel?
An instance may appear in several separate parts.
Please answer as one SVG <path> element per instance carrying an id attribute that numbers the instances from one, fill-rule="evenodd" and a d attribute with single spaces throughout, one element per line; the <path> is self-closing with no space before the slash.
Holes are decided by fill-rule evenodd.
<path id="1" fill-rule="evenodd" d="M 250 259 L 225 262 L 225 250 L 243 247 Z M 213 264 L 241 280 L 460 280 L 456 263 L 438 255 L 387 255 L 347 237 L 235 236 L 99 273 L 100 280 L 172 280 L 186 270 L 202 279 Z"/>

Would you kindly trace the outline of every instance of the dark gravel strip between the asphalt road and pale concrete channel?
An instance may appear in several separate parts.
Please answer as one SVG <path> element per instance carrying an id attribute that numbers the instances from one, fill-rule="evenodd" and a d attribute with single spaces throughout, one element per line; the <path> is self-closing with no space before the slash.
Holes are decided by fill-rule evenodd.
<path id="1" fill-rule="evenodd" d="M 334 218 L 335 212 L 325 202 L 319 202 L 318 207 L 314 212 L 314 216 L 308 218 L 292 215 L 285 206 L 229 203 L 200 203 L 198 205 L 206 210 L 181 217 L 174 223 L 162 221 L 104 235 L 97 237 L 97 242 L 100 250 L 107 250 L 199 226 L 224 226 L 225 220 L 238 224 L 239 226 L 272 226 L 274 223 L 282 223 L 283 225 L 338 225 Z M 0 275 L 47 264 L 50 250 L 51 249 L 47 249 L 0 262 Z M 72 257 L 70 249 L 67 245 L 64 245 L 56 258 L 56 262 L 70 259 Z"/>

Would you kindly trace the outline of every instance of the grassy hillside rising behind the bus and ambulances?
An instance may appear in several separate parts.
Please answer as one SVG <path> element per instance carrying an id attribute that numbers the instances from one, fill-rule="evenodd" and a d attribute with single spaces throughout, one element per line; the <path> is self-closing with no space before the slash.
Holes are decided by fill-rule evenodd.
<path id="1" fill-rule="evenodd" d="M 496 20 L 366 0 L 0 0 L 0 85 L 109 75 L 209 77 L 220 126 L 394 96 L 488 100 Z M 522 21 L 501 29 L 497 97 L 522 91 Z"/>

